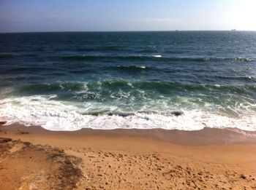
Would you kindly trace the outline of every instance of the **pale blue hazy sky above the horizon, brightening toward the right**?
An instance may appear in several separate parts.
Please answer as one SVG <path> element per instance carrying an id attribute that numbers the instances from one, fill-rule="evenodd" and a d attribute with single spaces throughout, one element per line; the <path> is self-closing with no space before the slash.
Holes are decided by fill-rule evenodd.
<path id="1" fill-rule="evenodd" d="M 0 0 L 0 32 L 256 31 L 256 0 Z"/>

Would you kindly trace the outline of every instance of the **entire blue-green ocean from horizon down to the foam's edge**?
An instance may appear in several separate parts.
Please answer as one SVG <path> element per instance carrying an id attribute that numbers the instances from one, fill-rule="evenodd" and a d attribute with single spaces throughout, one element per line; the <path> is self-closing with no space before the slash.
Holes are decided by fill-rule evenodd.
<path id="1" fill-rule="evenodd" d="M 256 130 L 256 32 L 0 33 L 0 121 Z"/>

